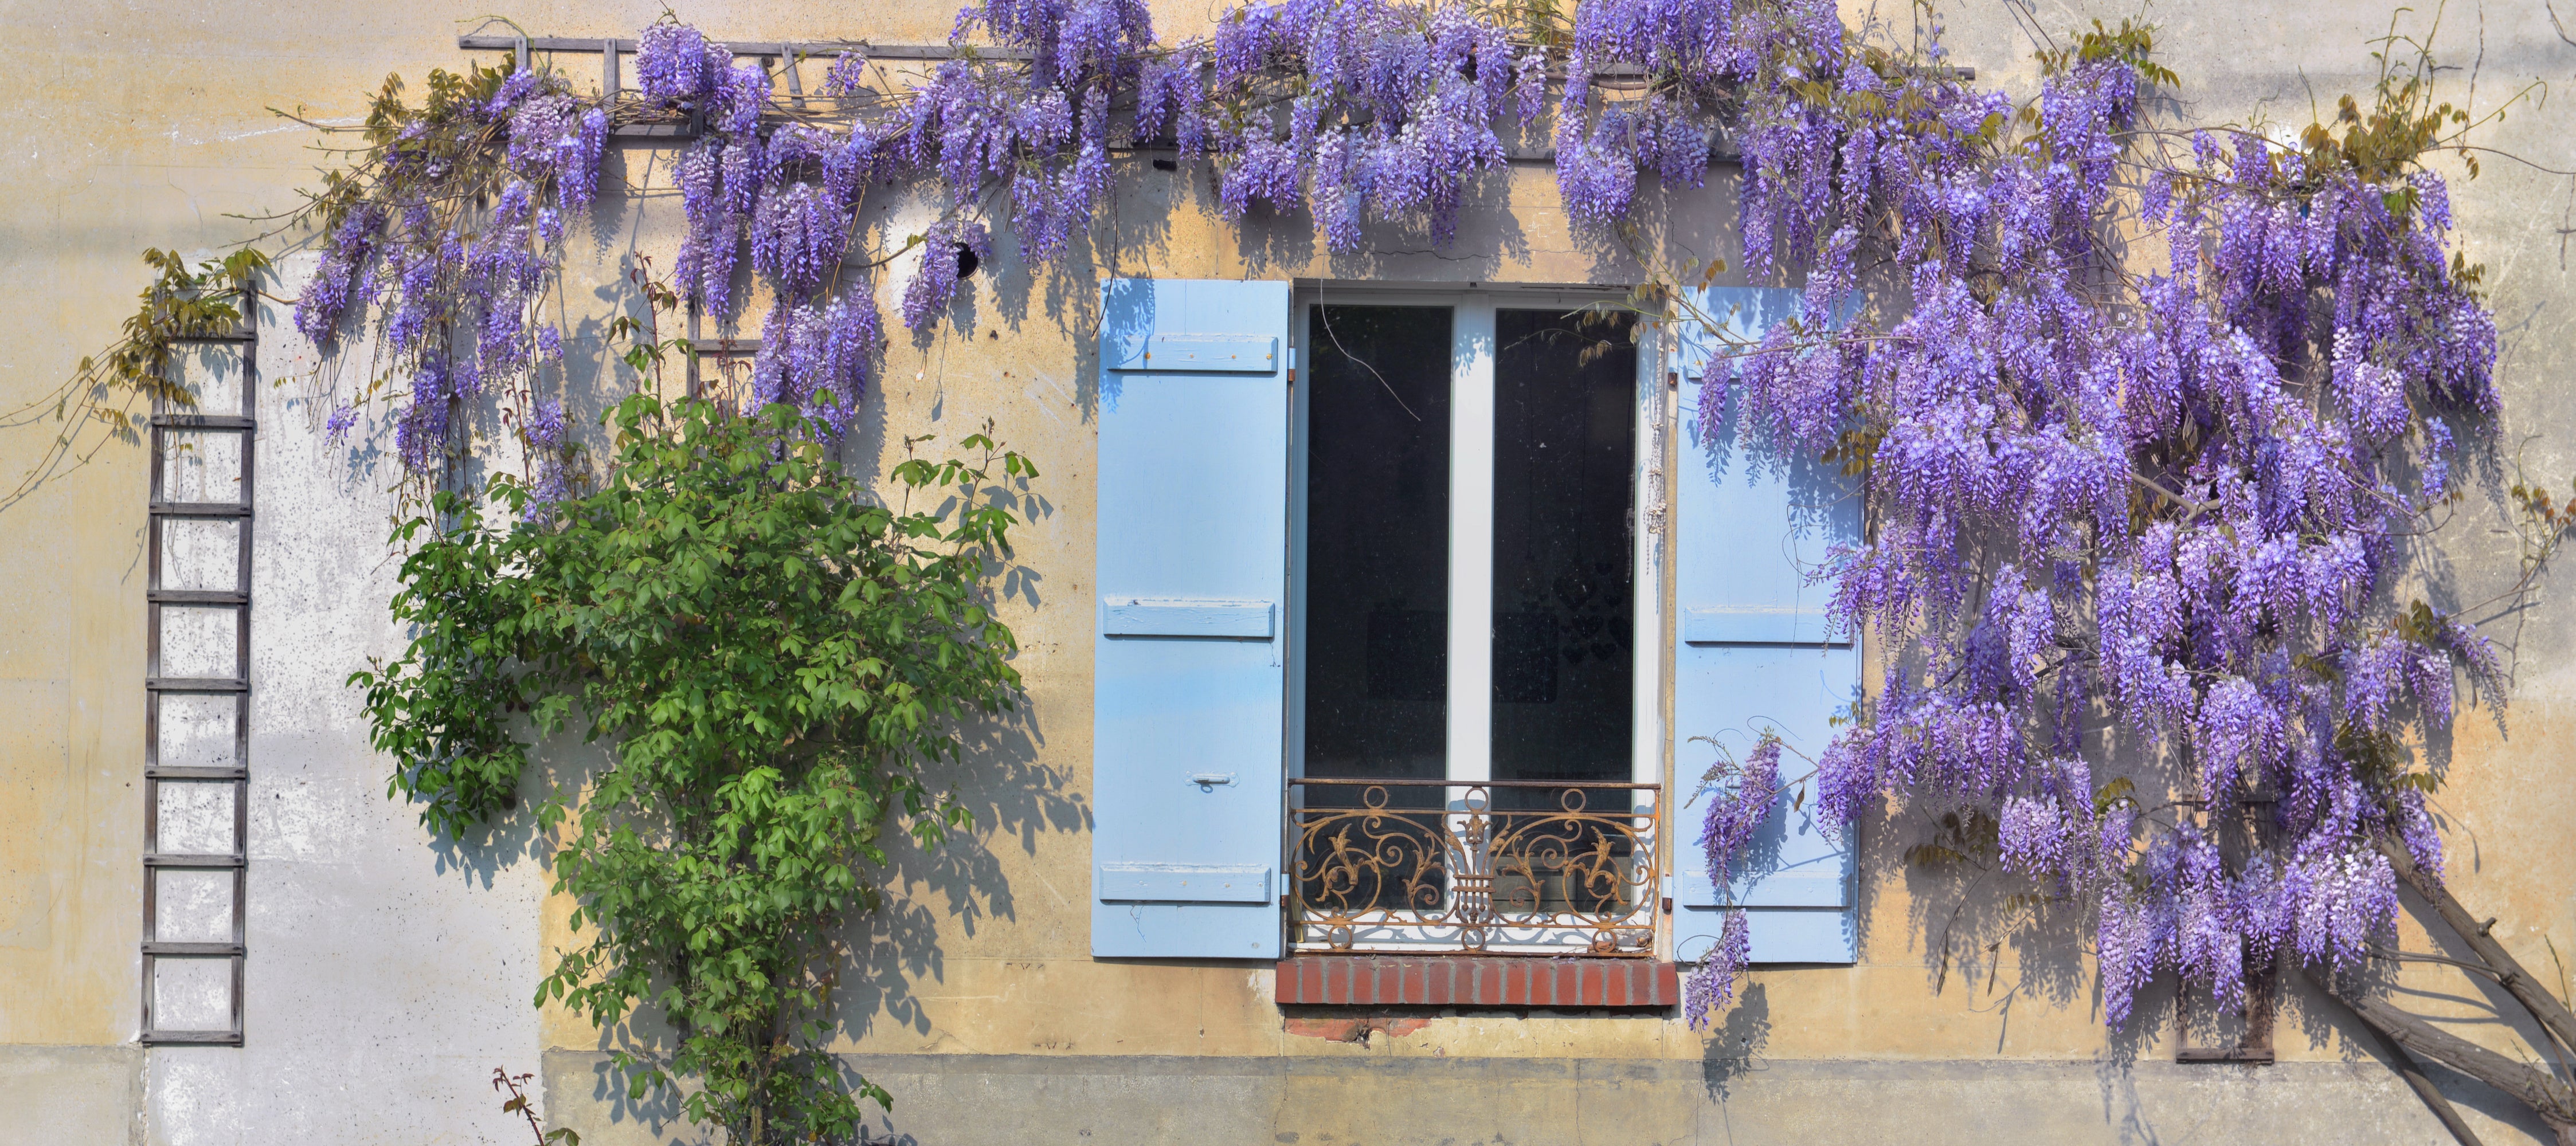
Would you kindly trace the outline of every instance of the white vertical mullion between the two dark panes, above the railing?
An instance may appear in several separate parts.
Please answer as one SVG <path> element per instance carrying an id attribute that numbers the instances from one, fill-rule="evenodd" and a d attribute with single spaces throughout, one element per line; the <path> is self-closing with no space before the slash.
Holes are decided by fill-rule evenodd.
<path id="1" fill-rule="evenodd" d="M 1494 778 L 1494 304 L 1450 324 L 1448 778 Z"/>

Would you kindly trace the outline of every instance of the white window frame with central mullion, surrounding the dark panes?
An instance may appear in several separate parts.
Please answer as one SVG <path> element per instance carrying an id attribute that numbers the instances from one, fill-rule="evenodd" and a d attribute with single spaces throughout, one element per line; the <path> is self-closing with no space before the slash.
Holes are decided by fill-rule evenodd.
<path id="1" fill-rule="evenodd" d="M 1494 312 L 1497 309 L 1582 309 L 1589 304 L 1620 304 L 1625 291 L 1602 286 L 1489 286 L 1468 288 L 1437 286 L 1378 286 L 1378 283 L 1319 283 L 1298 281 L 1291 304 L 1291 430 L 1288 430 L 1288 680 L 1285 680 L 1285 775 L 1306 775 L 1306 443 L 1309 397 L 1298 371 L 1311 361 L 1306 345 L 1311 306 L 1448 306 L 1450 309 L 1450 569 L 1448 569 L 1448 780 L 1473 785 L 1494 778 L 1494 631 L 1492 623 L 1458 623 L 1455 618 L 1492 618 L 1494 613 Z M 1669 435 L 1662 433 L 1672 417 L 1664 386 L 1664 340 L 1641 337 L 1636 345 L 1633 394 L 1633 466 L 1631 466 L 1631 600 L 1636 631 L 1631 634 L 1631 747 L 1628 780 L 1662 785 L 1654 803 L 1641 801 L 1641 814 L 1680 806 L 1672 798 L 1669 747 L 1664 731 L 1667 693 L 1672 688 L 1669 649 L 1664 646 L 1667 572 L 1664 572 L 1664 451 Z M 1651 796 L 1649 796 L 1651 798 Z M 1466 811 L 1461 798 L 1448 801 L 1450 811 Z M 1291 811 L 1283 803 L 1283 850 L 1293 852 L 1288 829 Z M 1662 824 L 1654 852 L 1659 870 L 1672 870 L 1674 827 Z M 1293 881 L 1293 855 L 1288 855 Z M 1669 888 L 1669 876 L 1664 878 Z M 1293 919 L 1288 922 L 1293 927 Z M 1654 912 L 1654 950 L 1667 958 L 1672 919 Z M 1396 932 L 1388 927 L 1388 932 Z M 1430 950 L 1445 940 L 1430 935 L 1383 935 L 1363 940 L 1360 950 L 1399 953 L 1406 948 Z M 1577 953 L 1587 940 L 1574 935 L 1525 935 L 1494 943 L 1492 953 Z M 1316 950 L 1319 945 L 1291 945 Z"/>

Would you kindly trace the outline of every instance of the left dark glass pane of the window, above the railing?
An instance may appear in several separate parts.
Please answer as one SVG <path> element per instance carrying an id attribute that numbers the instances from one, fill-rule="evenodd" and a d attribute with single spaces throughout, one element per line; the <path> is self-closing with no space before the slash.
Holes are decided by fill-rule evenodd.
<path id="1" fill-rule="evenodd" d="M 1311 306 L 1306 348 L 1306 775 L 1437 780 L 1450 309 Z M 1358 793 L 1309 791 L 1345 798 Z M 1437 788 L 1396 793 L 1432 803 Z"/>

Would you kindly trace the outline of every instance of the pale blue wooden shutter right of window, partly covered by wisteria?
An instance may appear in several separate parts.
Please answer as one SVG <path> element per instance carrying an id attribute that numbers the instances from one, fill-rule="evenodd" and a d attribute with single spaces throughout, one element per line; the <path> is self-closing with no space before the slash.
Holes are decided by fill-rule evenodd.
<path id="1" fill-rule="evenodd" d="M 1731 317 L 1739 337 L 1759 337 L 1798 312 L 1798 291 L 1710 288 L 1708 314 Z M 1698 332 L 1695 332 L 1698 335 Z M 1674 783 L 1682 791 L 1718 760 L 1716 737 L 1741 760 L 1765 729 L 1816 757 L 1832 716 L 1852 703 L 1860 659 L 1850 636 L 1826 641 L 1829 590 L 1806 572 L 1837 541 L 1860 536 L 1860 500 L 1839 469 L 1819 458 L 1783 466 L 1739 440 L 1734 409 L 1698 409 L 1698 379 L 1716 345 L 1682 345 L 1682 451 L 1674 515 Z M 1726 363 L 1716 366 L 1718 371 Z M 1783 755 L 1780 775 L 1808 770 Z M 1747 912 L 1754 963 L 1852 963 L 1852 855 L 1816 822 L 1814 785 L 1798 806 L 1783 793 L 1770 824 L 1736 863 L 1728 896 L 1708 878 L 1698 850 L 1713 793 L 1682 809 L 1677 832 L 1674 953 L 1698 961 L 1718 937 L 1726 906 Z"/>

